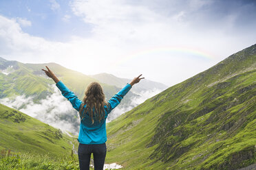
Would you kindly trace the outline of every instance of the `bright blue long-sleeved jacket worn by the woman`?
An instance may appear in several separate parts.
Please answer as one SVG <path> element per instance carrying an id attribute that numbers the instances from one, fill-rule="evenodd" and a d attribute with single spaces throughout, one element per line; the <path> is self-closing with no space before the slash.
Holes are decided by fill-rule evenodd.
<path id="1" fill-rule="evenodd" d="M 72 104 L 73 108 L 79 111 L 79 108 L 82 104 L 82 101 L 78 99 L 78 97 L 68 89 L 63 82 L 59 81 L 56 86 L 61 90 L 61 94 L 67 98 Z M 91 117 L 89 117 L 89 113 L 85 113 L 83 120 L 80 124 L 80 131 L 78 136 L 78 142 L 83 144 L 101 144 L 107 141 L 107 131 L 106 131 L 106 119 L 114 108 L 120 104 L 122 98 L 129 92 L 131 89 L 131 85 L 127 84 L 124 88 L 122 88 L 116 95 L 114 95 L 109 101 L 109 107 L 105 106 L 105 120 L 100 122 L 94 121 L 92 124 Z M 84 106 L 85 108 L 86 106 Z M 95 120 L 95 119 L 94 119 Z"/>

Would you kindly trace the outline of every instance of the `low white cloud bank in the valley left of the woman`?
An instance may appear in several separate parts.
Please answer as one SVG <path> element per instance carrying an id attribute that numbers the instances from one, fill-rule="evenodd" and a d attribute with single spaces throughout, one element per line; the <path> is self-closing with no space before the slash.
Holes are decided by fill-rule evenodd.
<path id="1" fill-rule="evenodd" d="M 61 95 L 56 86 L 52 86 L 52 88 L 54 88 L 54 93 L 45 99 L 41 99 L 39 103 L 34 103 L 33 97 L 25 97 L 25 95 L 17 96 L 14 99 L 0 99 L 0 103 L 15 108 L 53 127 L 78 134 L 80 124 L 79 118 L 76 118 L 78 112 Z"/>

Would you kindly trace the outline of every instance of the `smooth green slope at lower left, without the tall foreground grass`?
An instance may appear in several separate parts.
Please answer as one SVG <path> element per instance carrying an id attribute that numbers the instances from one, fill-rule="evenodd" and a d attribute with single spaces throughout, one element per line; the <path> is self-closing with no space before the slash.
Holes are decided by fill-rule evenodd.
<path id="1" fill-rule="evenodd" d="M 74 138 L 50 125 L 0 104 L 0 150 L 53 156 L 70 155 Z"/>

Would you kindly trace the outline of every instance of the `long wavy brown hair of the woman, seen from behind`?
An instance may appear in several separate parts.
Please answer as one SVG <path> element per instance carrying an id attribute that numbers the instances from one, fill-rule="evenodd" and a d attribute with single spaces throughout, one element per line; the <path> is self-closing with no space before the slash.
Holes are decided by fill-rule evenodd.
<path id="1" fill-rule="evenodd" d="M 85 109 L 83 107 L 86 105 Z M 89 117 L 94 123 L 94 116 L 100 122 L 105 117 L 104 106 L 107 106 L 103 88 L 98 82 L 92 82 L 87 86 L 85 90 L 85 97 L 83 97 L 83 103 L 79 110 L 81 120 L 83 120 L 84 114 L 89 113 Z"/>

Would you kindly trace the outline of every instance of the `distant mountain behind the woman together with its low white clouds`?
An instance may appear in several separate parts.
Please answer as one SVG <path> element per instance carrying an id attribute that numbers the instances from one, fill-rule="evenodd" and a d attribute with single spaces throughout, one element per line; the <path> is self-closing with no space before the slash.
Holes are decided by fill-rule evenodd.
<path id="1" fill-rule="evenodd" d="M 79 121 L 76 110 L 61 96 L 56 89 L 54 81 L 48 78 L 41 69 L 49 66 L 57 77 L 70 88 L 79 99 L 83 99 L 85 89 L 90 82 L 98 80 L 66 69 L 56 63 L 23 64 L 0 58 L 0 103 L 21 110 L 30 116 L 54 125 L 54 127 L 78 133 Z M 110 99 L 121 88 L 100 83 L 107 99 Z M 128 93 L 114 114 L 109 119 L 114 119 L 131 108 L 131 101 L 139 95 Z M 133 106 L 134 107 L 134 106 Z"/>

